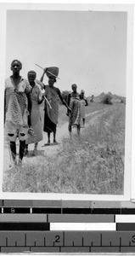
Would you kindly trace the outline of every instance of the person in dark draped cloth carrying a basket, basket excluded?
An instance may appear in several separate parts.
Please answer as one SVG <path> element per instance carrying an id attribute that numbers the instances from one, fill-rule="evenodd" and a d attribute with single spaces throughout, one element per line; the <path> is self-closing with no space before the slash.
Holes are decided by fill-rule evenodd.
<path id="1" fill-rule="evenodd" d="M 42 82 L 44 74 L 47 69 L 44 69 L 42 74 L 42 78 L 40 81 Z M 59 114 L 59 103 L 58 97 L 61 102 L 65 105 L 66 108 L 70 111 L 67 103 L 63 99 L 59 88 L 55 87 L 53 84 L 56 83 L 56 78 L 52 75 L 48 79 L 48 85 L 44 85 L 45 96 L 47 101 L 45 100 L 45 108 L 44 108 L 44 126 L 43 131 L 48 133 L 48 143 L 45 145 L 50 145 L 50 134 L 53 132 L 53 144 L 58 144 L 56 141 L 56 128 L 58 124 L 58 114 Z"/>

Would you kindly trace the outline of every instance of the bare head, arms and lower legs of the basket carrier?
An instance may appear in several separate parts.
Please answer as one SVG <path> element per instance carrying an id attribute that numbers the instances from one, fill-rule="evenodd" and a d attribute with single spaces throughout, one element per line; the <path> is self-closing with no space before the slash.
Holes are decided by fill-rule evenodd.
<path id="1" fill-rule="evenodd" d="M 47 69 L 45 68 L 44 72 L 42 74 L 42 77 L 40 79 L 41 82 L 42 82 L 42 80 L 44 78 L 44 74 L 46 73 L 46 71 L 47 71 Z M 54 83 L 55 83 L 54 79 L 48 79 L 48 85 L 50 87 L 56 89 L 56 87 L 53 86 Z M 46 85 L 44 85 L 44 89 L 45 88 L 46 88 Z M 60 90 L 58 88 L 56 90 L 57 90 L 57 93 L 58 93 L 58 96 L 59 96 L 59 99 L 61 100 L 61 102 L 65 105 L 65 107 L 69 110 L 69 112 L 71 112 L 71 109 L 68 107 L 68 105 L 66 104 L 65 100 L 63 99 Z M 57 143 L 55 137 L 56 137 L 56 131 L 53 131 L 53 143 Z M 48 132 L 48 144 L 50 144 L 50 132 Z"/>

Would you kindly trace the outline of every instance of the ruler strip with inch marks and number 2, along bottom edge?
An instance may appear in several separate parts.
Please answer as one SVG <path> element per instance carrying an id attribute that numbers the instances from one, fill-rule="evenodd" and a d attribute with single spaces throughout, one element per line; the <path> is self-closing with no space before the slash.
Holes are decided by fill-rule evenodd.
<path id="1" fill-rule="evenodd" d="M 132 231 L 0 231 L 0 251 L 135 253 Z"/>

